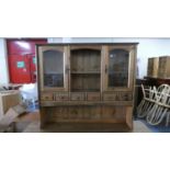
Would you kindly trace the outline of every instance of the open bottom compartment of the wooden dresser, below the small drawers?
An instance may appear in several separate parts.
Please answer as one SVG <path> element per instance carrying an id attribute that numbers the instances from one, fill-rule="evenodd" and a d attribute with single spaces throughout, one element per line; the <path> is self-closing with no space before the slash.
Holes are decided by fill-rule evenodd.
<path id="1" fill-rule="evenodd" d="M 106 131 L 105 127 L 114 127 L 114 124 L 117 124 L 117 132 L 131 131 L 133 128 L 132 110 L 132 106 L 110 105 L 44 106 L 41 107 L 41 127 L 46 128 L 50 124 L 82 125 L 84 131 L 90 131 L 91 126 L 91 131 L 94 131 L 94 127 L 99 131 L 101 127 L 102 132 Z"/>

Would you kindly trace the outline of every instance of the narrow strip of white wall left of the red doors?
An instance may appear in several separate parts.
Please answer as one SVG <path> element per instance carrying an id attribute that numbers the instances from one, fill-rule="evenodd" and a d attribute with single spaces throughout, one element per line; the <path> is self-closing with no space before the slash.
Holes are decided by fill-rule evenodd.
<path id="1" fill-rule="evenodd" d="M 9 70 L 7 60 L 5 41 L 0 38 L 0 84 L 9 83 Z"/>

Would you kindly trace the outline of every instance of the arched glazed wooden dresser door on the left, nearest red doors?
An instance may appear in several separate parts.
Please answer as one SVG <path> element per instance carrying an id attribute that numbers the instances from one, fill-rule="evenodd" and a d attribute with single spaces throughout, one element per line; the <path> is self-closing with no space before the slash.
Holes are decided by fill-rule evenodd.
<path id="1" fill-rule="evenodd" d="M 41 46 L 38 48 L 42 90 L 68 91 L 67 54 L 66 46 Z"/>

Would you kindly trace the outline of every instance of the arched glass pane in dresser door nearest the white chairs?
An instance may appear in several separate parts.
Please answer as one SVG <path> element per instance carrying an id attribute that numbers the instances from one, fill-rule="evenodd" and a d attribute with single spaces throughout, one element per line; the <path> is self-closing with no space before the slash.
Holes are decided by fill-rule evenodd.
<path id="1" fill-rule="evenodd" d="M 109 55 L 109 87 L 127 87 L 128 52 L 114 49 Z"/>

